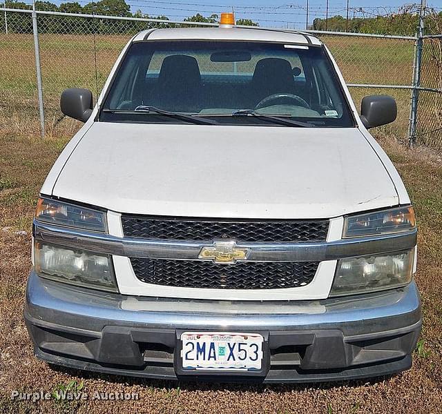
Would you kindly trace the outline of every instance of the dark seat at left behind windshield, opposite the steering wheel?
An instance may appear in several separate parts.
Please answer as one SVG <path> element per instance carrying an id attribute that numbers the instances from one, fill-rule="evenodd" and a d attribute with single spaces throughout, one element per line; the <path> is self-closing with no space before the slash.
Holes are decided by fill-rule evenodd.
<path id="1" fill-rule="evenodd" d="M 174 112 L 198 112 L 201 108 L 202 80 L 198 61 L 187 55 L 164 58 L 153 92 L 155 106 Z M 148 99 L 144 99 L 149 105 Z"/>

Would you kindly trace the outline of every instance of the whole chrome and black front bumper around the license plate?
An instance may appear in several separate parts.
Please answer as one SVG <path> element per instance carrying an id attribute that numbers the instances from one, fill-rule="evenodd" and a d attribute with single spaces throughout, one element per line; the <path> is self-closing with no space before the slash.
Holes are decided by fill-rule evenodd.
<path id="1" fill-rule="evenodd" d="M 410 368 L 421 330 L 414 282 L 357 297 L 229 302 L 97 292 L 31 273 L 24 315 L 40 359 L 163 380 L 319 382 L 388 375 Z M 262 333 L 267 375 L 177 375 L 173 360 L 182 330 Z"/>

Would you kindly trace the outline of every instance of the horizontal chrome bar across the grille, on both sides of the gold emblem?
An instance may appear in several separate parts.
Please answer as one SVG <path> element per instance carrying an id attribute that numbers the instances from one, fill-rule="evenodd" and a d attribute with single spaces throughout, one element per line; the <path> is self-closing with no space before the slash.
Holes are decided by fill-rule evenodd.
<path id="1" fill-rule="evenodd" d="M 180 240 L 148 240 L 117 237 L 86 230 L 65 228 L 34 220 L 33 235 L 37 241 L 59 244 L 70 248 L 90 250 L 126 257 L 151 257 L 155 259 L 195 260 L 207 242 L 185 242 Z M 414 248 L 417 230 L 395 235 L 340 239 L 333 242 L 299 243 L 241 243 L 250 248 L 247 260 L 251 262 L 322 262 L 344 257 L 392 253 Z"/>

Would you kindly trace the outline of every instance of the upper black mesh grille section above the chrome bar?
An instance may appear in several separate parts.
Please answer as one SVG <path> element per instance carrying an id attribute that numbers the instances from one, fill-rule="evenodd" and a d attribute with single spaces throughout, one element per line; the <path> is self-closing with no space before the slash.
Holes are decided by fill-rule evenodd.
<path id="1" fill-rule="evenodd" d="M 239 242 L 323 242 L 328 220 L 175 219 L 122 215 L 126 237 L 144 239 L 213 240 Z"/>

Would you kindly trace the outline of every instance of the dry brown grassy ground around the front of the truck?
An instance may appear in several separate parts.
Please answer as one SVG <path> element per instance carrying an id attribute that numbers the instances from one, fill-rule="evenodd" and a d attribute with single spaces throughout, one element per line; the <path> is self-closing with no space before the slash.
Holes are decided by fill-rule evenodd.
<path id="1" fill-rule="evenodd" d="M 381 139 L 401 173 L 419 219 L 422 341 L 410 371 L 363 382 L 261 386 L 169 383 L 48 366 L 32 355 L 23 323 L 30 270 L 30 223 L 39 187 L 66 139 L 0 134 L 0 413 L 442 413 L 442 162 L 438 155 Z M 22 393 L 135 393 L 137 400 L 11 400 Z"/>

